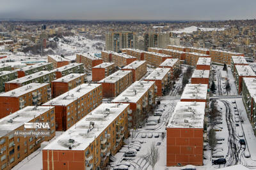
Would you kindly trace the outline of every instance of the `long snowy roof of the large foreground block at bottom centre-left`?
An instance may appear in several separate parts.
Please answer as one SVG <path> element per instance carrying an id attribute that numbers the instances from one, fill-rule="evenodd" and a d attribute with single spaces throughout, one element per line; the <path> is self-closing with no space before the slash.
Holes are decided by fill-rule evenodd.
<path id="1" fill-rule="evenodd" d="M 72 146 L 72 150 L 85 150 L 128 106 L 124 103 L 100 104 L 43 150 L 70 150 L 69 146 Z M 94 123 L 93 127 L 90 127 L 91 122 Z M 74 143 L 69 143 L 68 139 L 74 139 Z"/>

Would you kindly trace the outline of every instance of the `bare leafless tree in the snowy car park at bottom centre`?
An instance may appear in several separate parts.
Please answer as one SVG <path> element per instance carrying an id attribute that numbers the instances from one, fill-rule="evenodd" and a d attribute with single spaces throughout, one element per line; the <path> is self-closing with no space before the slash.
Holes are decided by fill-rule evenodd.
<path id="1" fill-rule="evenodd" d="M 159 151 L 154 142 L 151 144 L 148 153 L 143 155 L 143 159 L 145 159 L 154 170 L 156 162 L 159 160 Z"/>

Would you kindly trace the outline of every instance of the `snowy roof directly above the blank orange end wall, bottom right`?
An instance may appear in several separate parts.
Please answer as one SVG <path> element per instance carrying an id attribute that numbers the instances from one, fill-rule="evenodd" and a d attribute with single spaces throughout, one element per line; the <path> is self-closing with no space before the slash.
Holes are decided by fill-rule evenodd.
<path id="1" fill-rule="evenodd" d="M 205 102 L 177 102 L 167 128 L 204 128 Z"/>

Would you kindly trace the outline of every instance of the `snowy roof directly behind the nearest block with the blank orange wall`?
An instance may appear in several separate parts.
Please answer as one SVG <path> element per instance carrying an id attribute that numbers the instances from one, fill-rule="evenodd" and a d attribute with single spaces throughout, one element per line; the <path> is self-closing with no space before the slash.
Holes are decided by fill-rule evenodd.
<path id="1" fill-rule="evenodd" d="M 180 99 L 207 99 L 206 84 L 187 84 Z"/>

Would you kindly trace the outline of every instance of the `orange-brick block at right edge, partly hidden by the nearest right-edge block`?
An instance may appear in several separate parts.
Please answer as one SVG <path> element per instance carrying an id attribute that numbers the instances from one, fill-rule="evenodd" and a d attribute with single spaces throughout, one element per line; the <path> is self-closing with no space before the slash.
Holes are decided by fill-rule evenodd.
<path id="1" fill-rule="evenodd" d="M 244 65 L 236 65 L 234 78 L 235 78 L 235 83 L 236 83 L 238 94 L 240 94 L 243 89 L 242 82 L 243 82 L 244 77 L 256 77 L 256 74 L 252 70 L 252 67 L 250 67 L 248 65 L 245 65 L 245 66 Z"/>

